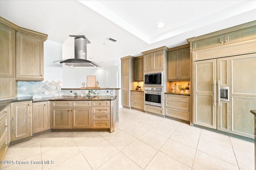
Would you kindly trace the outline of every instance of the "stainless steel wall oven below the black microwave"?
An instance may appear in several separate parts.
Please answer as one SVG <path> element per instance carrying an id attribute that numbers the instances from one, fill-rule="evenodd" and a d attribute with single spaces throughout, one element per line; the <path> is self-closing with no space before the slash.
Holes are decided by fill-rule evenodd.
<path id="1" fill-rule="evenodd" d="M 162 107 L 163 106 L 163 101 L 162 101 L 162 93 L 163 93 L 163 88 L 144 88 L 145 92 L 145 104 L 152 105 L 152 106 L 158 106 Z"/>

